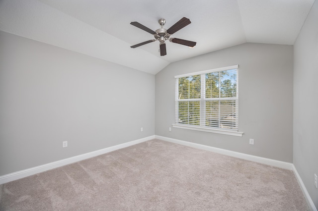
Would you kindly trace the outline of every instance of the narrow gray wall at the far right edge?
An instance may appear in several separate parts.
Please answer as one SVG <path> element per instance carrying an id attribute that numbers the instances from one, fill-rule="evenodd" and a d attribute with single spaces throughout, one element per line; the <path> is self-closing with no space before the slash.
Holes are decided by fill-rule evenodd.
<path id="1" fill-rule="evenodd" d="M 318 1 L 294 45 L 294 165 L 318 209 Z"/>

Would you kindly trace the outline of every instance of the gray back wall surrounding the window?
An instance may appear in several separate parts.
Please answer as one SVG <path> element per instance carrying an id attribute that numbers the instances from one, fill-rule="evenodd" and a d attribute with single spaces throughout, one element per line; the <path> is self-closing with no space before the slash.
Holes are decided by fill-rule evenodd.
<path id="1" fill-rule="evenodd" d="M 242 137 L 168 128 L 174 75 L 239 64 Z M 246 43 L 169 64 L 156 75 L 156 135 L 249 155 L 293 161 L 293 46 Z M 249 145 L 249 139 L 254 145 Z"/>

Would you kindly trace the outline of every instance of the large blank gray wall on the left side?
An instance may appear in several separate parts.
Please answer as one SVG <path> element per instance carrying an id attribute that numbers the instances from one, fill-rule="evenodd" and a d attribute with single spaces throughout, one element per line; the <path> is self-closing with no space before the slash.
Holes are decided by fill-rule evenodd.
<path id="1" fill-rule="evenodd" d="M 154 134 L 155 75 L 0 31 L 0 175 Z"/>

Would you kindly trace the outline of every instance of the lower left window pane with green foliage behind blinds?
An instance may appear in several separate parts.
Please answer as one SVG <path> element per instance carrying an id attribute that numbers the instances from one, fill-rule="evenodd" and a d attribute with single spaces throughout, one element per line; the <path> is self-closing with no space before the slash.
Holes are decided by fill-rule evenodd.
<path id="1" fill-rule="evenodd" d="M 200 102 L 179 102 L 178 123 L 200 125 Z"/>

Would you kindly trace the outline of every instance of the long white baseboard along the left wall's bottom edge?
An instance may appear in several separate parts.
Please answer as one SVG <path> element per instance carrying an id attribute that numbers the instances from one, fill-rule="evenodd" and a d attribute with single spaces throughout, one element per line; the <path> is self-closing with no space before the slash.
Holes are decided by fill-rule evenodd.
<path id="1" fill-rule="evenodd" d="M 135 145 L 135 144 L 139 144 L 139 143 L 151 140 L 151 139 L 155 139 L 155 135 L 149 136 L 149 137 L 146 137 L 146 138 L 142 138 L 142 139 L 138 139 L 138 140 L 135 140 L 135 141 L 131 141 L 131 142 L 115 145 L 115 146 L 112 146 L 112 147 L 107 147 L 107 148 L 104 148 L 104 149 L 101 149 L 101 150 L 96 150 L 94 152 L 85 153 L 85 154 L 82 154 L 82 155 L 79 155 L 79 156 L 66 158 L 66 159 L 55 161 L 55 162 L 50 162 L 50 163 L 47 163 L 47 164 L 44 164 L 44 165 L 35 166 L 33 168 L 28 168 L 28 169 L 25 169 L 25 170 L 21 170 L 21 171 L 13 172 L 13 173 L 10 173 L 10 174 L 6 174 L 6 175 L 3 175 L 3 176 L 0 176 L 0 184 L 6 183 L 6 182 L 11 182 L 11 181 L 17 180 L 17 179 L 21 179 L 23 177 L 31 176 L 33 174 L 41 173 L 41 172 L 44 172 L 44 171 L 47 171 L 47 170 L 50 170 L 50 169 L 53 169 L 53 168 L 61 167 L 63 165 L 67 165 L 67 164 L 70 164 L 70 163 L 78 162 L 78 161 L 83 160 L 83 159 L 96 157 L 96 156 L 99 156 L 99 155 L 102 155 L 102 154 L 105 154 L 105 153 L 109 153 L 109 152 L 112 152 L 112 151 L 115 151 L 115 150 L 119 150 L 119 149 L 122 149 L 122 148 L 125 148 L 125 147 L 129 147 L 129 146 L 132 146 L 132 145 Z"/>

